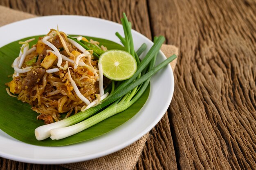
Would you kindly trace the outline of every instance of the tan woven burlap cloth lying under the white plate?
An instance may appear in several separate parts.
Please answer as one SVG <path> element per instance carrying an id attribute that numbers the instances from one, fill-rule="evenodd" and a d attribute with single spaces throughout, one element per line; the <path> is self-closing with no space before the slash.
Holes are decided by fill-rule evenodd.
<path id="1" fill-rule="evenodd" d="M 36 16 L 0 6 L 0 26 L 33 17 Z M 161 50 L 166 56 L 178 54 L 177 47 L 173 45 L 162 45 Z M 173 70 L 176 63 L 177 59 L 171 63 Z M 72 170 L 131 170 L 136 165 L 148 137 L 149 133 L 128 147 L 105 157 L 78 163 L 62 164 L 61 166 Z"/>

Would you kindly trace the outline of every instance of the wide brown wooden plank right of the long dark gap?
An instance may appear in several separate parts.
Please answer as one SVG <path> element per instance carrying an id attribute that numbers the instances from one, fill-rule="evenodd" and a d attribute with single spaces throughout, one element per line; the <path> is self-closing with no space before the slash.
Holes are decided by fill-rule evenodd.
<path id="1" fill-rule="evenodd" d="M 166 23 L 153 34 L 180 48 L 168 114 L 178 169 L 256 169 L 255 2 L 149 3 L 150 22 Z"/>

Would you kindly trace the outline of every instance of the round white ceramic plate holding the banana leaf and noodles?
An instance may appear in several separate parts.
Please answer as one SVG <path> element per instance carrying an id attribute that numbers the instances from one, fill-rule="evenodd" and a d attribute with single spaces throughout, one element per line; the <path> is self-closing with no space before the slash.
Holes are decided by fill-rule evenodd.
<path id="1" fill-rule="evenodd" d="M 67 34 L 105 38 L 118 43 L 119 39 L 115 32 L 124 35 L 120 24 L 108 20 L 85 16 L 45 16 L 0 27 L 0 47 L 28 36 L 47 34 L 49 29 L 56 28 L 57 25 Z M 153 42 L 137 31 L 132 30 L 132 36 L 136 50 L 143 42 L 148 45 L 147 50 L 153 45 Z M 160 52 L 157 63 L 165 58 Z M 160 121 L 171 103 L 173 90 L 173 71 L 168 65 L 151 79 L 150 94 L 144 107 L 115 130 L 89 141 L 61 147 L 30 145 L 0 130 L 0 157 L 27 163 L 58 164 L 85 161 L 111 154 L 140 139 Z"/>

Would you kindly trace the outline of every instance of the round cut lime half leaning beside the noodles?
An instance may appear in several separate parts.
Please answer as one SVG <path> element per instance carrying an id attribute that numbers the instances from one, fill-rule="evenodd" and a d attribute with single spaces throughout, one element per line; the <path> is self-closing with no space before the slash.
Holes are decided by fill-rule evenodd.
<path id="1" fill-rule="evenodd" d="M 122 50 L 104 52 L 99 57 L 99 63 L 102 65 L 103 75 L 115 81 L 130 78 L 137 70 L 135 58 L 128 52 Z"/>

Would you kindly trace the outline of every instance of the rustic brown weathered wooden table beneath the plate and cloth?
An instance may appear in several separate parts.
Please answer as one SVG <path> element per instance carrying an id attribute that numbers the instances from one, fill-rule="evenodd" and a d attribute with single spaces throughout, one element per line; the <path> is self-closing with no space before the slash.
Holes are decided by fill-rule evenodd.
<path id="1" fill-rule="evenodd" d="M 255 0 L 1 0 L 120 23 L 179 47 L 175 92 L 135 169 L 256 169 Z M 253 12 L 254 11 L 254 12 Z M 0 169 L 65 169 L 1 159 Z"/>

